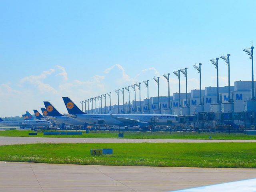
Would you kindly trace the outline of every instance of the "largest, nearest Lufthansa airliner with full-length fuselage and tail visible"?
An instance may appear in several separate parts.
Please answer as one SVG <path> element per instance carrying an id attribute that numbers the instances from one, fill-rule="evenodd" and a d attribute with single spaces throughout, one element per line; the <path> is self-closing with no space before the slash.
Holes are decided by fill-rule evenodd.
<path id="1" fill-rule="evenodd" d="M 68 114 L 65 116 L 74 118 L 88 124 L 111 124 L 122 126 L 168 125 L 178 123 L 178 115 L 162 114 L 86 114 L 82 112 L 68 97 L 62 97 Z"/>

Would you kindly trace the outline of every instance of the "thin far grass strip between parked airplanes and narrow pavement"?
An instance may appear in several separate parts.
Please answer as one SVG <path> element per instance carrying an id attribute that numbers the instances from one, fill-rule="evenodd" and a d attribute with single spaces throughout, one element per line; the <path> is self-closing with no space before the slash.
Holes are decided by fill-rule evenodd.
<path id="1" fill-rule="evenodd" d="M 20 136 L 28 137 L 30 130 L 5 130 L 0 131 L 0 136 Z M 256 136 L 245 135 L 240 133 L 213 133 L 213 132 L 124 132 L 124 138 L 156 138 L 156 139 L 208 139 L 209 136 L 212 139 L 242 139 L 242 140 L 255 140 Z M 38 135 L 32 135 L 31 137 L 72 137 L 72 138 L 118 138 L 118 132 L 94 132 L 90 131 L 86 134 L 83 131 L 82 135 L 43 135 L 42 132 L 38 132 Z"/>

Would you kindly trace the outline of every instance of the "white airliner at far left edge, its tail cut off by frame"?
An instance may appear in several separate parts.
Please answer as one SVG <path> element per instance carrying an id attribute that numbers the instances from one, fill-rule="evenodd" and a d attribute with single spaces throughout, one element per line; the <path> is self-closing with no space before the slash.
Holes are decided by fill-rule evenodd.
<path id="1" fill-rule="evenodd" d="M 52 123 L 49 121 L 35 121 L 35 120 L 27 120 L 26 122 L 23 121 L 4 121 L 2 118 L 0 118 L 0 125 L 5 126 L 20 126 L 23 128 L 26 127 L 34 127 L 34 126 L 51 126 Z"/>

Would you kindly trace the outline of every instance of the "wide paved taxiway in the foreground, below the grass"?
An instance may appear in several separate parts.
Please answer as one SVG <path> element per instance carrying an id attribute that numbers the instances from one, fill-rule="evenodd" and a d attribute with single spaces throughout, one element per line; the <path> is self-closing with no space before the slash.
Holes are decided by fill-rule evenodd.
<path id="1" fill-rule="evenodd" d="M 0 162 L 0 192 L 166 192 L 255 176 L 256 169 Z"/>

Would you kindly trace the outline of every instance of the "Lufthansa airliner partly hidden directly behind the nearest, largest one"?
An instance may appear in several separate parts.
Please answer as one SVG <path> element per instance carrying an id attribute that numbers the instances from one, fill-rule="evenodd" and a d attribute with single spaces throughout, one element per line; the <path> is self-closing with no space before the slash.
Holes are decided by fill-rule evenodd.
<path id="1" fill-rule="evenodd" d="M 46 118 L 55 120 L 59 124 L 68 124 L 68 125 L 76 125 L 76 126 L 84 125 L 84 123 L 74 118 L 70 118 L 62 115 L 60 112 L 58 112 L 58 110 L 56 110 L 56 108 L 52 104 L 50 104 L 50 102 L 44 101 L 44 105 L 45 105 L 46 111 L 44 111 L 43 114 Z"/>

